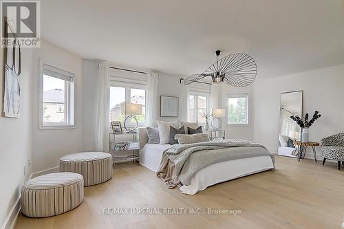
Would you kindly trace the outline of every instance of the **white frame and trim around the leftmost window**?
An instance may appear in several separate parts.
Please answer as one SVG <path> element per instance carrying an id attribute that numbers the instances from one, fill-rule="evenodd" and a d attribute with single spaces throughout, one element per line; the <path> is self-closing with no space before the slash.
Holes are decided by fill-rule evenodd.
<path id="1" fill-rule="evenodd" d="M 66 122 L 43 122 L 43 69 L 44 65 L 50 65 L 52 67 L 61 69 L 65 72 L 73 74 L 73 85 L 65 82 L 65 115 Z M 40 60 L 39 67 L 39 129 L 76 129 L 76 72 L 67 67 L 49 63 L 47 61 Z"/>

